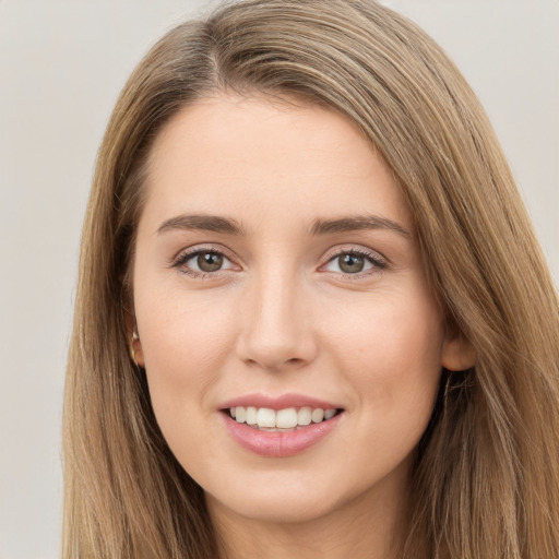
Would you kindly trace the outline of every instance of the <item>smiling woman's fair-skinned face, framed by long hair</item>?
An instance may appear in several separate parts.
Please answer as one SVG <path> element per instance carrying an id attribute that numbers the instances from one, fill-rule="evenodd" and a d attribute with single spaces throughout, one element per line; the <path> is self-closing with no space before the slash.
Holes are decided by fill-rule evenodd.
<path id="1" fill-rule="evenodd" d="M 449 340 L 394 177 L 344 117 L 217 96 L 150 156 L 134 312 L 160 429 L 212 510 L 405 491 Z"/>

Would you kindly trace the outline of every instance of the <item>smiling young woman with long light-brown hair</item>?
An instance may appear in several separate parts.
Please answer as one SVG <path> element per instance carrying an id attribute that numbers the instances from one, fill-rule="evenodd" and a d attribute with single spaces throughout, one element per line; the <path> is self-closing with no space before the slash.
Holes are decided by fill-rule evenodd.
<path id="1" fill-rule="evenodd" d="M 368 0 L 126 85 L 87 211 L 64 557 L 559 556 L 557 295 L 493 132 Z"/>

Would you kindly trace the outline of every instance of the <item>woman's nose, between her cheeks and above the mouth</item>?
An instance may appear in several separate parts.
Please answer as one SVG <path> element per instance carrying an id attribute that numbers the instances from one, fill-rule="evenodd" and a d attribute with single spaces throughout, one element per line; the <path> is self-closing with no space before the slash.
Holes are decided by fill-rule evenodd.
<path id="1" fill-rule="evenodd" d="M 311 302 L 296 275 L 265 274 L 247 288 L 237 354 L 249 366 L 292 370 L 316 358 Z"/>

